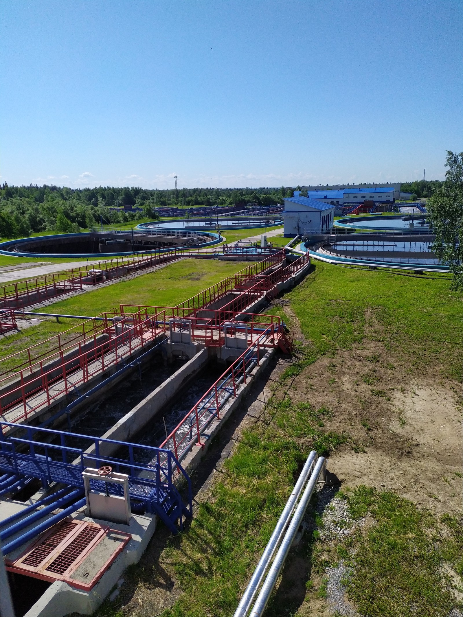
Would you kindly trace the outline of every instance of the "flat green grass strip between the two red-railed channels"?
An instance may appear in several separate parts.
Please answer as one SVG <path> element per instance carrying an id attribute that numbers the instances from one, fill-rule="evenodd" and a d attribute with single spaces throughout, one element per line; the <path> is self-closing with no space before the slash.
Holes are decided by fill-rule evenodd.
<path id="1" fill-rule="evenodd" d="M 217 283 L 248 265 L 244 262 L 219 262 L 215 260 L 188 259 L 174 262 L 154 273 L 131 280 L 120 280 L 114 285 L 96 288 L 41 310 L 45 313 L 68 315 L 99 315 L 119 304 L 147 304 L 175 306 L 194 296 L 202 289 Z M 40 312 L 40 311 L 38 311 Z M 43 321 L 23 332 L 0 339 L 0 358 L 27 349 L 55 334 L 80 323 L 81 320 L 63 320 L 62 323 Z M 41 348 L 43 352 L 46 344 Z M 12 365 L 16 365 L 17 360 Z M 2 370 L 6 370 L 4 366 Z"/>

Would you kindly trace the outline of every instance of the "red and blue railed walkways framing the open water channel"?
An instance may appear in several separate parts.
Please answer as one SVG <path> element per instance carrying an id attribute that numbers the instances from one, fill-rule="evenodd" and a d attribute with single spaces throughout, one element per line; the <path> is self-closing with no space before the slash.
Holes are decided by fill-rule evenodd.
<path id="1" fill-rule="evenodd" d="M 44 486 L 59 482 L 68 490 L 60 498 L 65 507 L 58 515 L 65 518 L 83 505 L 82 471 L 88 466 L 111 465 L 128 474 L 133 508 L 141 503 L 172 532 L 178 524 L 181 528 L 183 518 L 191 516 L 191 483 L 181 461 L 195 445 L 204 445 L 207 427 L 220 420 L 223 406 L 238 395 L 262 354 L 275 347 L 285 352 L 291 349 L 280 318 L 253 312 L 259 302 L 274 297 L 285 284 L 293 284 L 310 264 L 307 254 L 287 261 L 285 250 L 267 255 L 177 307 L 121 305 L 117 312 L 102 313 L 98 320 L 92 318 L 52 337 L 45 346 L 38 344 L 0 362 L 0 497 L 26 487 L 33 478 Z M 160 344 L 185 338 L 217 349 L 234 341 L 243 352 L 235 354 L 238 358 L 161 447 L 45 428 L 64 415 L 76 397 L 85 398 L 86 392 L 135 366 Z M 2 370 L 2 364 L 9 368 Z M 70 446 L 72 439 L 86 441 L 85 447 Z M 187 487 L 186 503 L 177 489 L 182 479 Z M 111 486 L 110 491 L 118 490 Z M 49 523 L 40 522 L 40 512 L 47 511 L 42 508 L 31 515 L 38 525 L 30 537 Z M 53 517 L 53 522 L 57 520 Z M 9 537 L 8 529 L 1 532 L 2 540 Z M 7 544 L 7 552 L 15 546 Z"/>

